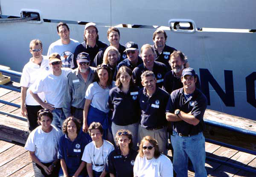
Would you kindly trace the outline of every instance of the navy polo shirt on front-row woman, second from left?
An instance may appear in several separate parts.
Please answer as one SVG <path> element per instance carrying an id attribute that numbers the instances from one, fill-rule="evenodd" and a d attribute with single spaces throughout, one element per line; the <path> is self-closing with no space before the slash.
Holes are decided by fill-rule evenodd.
<path id="1" fill-rule="evenodd" d="M 81 158 L 84 153 L 84 147 L 90 143 L 88 134 L 79 131 L 76 139 L 72 142 L 67 134 L 64 134 L 59 142 L 58 147 L 58 159 L 64 159 L 67 165 L 68 174 L 73 175 L 81 164 Z M 82 171 L 82 174 L 87 174 L 86 169 Z"/>

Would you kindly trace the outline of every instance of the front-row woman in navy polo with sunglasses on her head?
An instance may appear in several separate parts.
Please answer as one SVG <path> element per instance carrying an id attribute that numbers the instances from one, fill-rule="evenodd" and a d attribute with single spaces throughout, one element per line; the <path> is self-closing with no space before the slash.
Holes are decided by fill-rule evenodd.
<path id="1" fill-rule="evenodd" d="M 116 132 L 116 149 L 108 156 L 110 177 L 133 177 L 134 161 L 137 152 L 132 147 L 132 134 L 121 129 Z"/>

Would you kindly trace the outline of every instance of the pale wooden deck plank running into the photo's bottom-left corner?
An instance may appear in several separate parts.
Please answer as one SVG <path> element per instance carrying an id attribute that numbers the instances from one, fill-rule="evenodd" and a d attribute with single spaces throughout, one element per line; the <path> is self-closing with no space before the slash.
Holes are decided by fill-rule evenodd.
<path id="1" fill-rule="evenodd" d="M 0 177 L 8 177 L 31 163 L 29 152 L 25 152 L 14 160 L 0 167 Z"/>

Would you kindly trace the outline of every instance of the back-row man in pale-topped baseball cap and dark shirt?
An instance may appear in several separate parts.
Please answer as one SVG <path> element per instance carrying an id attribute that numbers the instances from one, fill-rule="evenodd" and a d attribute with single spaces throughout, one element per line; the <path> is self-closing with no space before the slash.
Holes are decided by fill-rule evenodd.
<path id="1" fill-rule="evenodd" d="M 93 59 L 96 54 L 107 47 L 108 45 L 99 40 L 98 29 L 95 23 L 87 23 L 84 27 L 84 42 L 76 47 L 74 57 L 71 63 L 71 68 L 76 69 L 78 67 L 76 60 L 77 55 L 81 52 L 86 52 L 90 56 L 90 66 L 93 65 Z"/>

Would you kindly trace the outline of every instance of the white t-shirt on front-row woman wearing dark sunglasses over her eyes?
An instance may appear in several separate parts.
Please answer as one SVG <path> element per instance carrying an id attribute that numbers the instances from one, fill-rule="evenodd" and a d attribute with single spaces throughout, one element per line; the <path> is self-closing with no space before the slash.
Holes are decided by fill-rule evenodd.
<path id="1" fill-rule="evenodd" d="M 173 177 L 173 168 L 171 160 L 164 154 L 157 159 L 147 160 L 138 154 L 134 163 L 134 176 L 136 177 Z"/>

